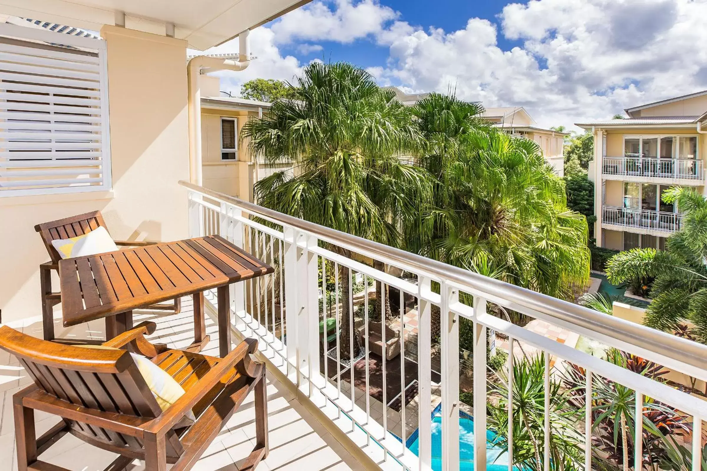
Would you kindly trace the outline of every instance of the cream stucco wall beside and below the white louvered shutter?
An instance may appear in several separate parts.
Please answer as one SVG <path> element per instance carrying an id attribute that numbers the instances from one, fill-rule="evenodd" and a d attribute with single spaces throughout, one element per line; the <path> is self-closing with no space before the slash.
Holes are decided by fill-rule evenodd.
<path id="1" fill-rule="evenodd" d="M 115 239 L 187 237 L 187 42 L 114 26 L 107 41 L 113 191 L 0 198 L 2 321 L 40 316 L 34 225 L 100 210 Z M 57 280 L 54 288 L 58 291 Z"/>

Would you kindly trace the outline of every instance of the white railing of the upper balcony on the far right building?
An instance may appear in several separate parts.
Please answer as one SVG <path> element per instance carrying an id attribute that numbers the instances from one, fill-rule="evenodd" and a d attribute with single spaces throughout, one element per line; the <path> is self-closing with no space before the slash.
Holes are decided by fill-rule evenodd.
<path id="1" fill-rule="evenodd" d="M 624 177 L 655 177 L 703 181 L 703 161 L 649 157 L 604 157 L 602 173 Z"/>

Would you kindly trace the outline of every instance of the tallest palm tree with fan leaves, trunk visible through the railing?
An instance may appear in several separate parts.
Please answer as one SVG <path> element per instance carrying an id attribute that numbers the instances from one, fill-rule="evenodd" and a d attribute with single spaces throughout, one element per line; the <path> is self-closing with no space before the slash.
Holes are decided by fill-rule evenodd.
<path id="1" fill-rule="evenodd" d="M 409 157 L 422 145 L 409 109 L 350 64 L 307 66 L 293 98 L 276 100 L 241 133 L 255 155 L 290 157 L 293 172 L 276 172 L 255 185 L 260 204 L 365 239 L 398 246 L 399 227 L 410 226 L 431 199 L 431 176 Z M 347 257 L 348 251 L 332 246 Z M 349 269 L 339 266 L 341 358 L 349 345 Z M 378 299 L 381 299 L 380 293 Z M 351 347 L 353 347 L 351 349 Z"/>

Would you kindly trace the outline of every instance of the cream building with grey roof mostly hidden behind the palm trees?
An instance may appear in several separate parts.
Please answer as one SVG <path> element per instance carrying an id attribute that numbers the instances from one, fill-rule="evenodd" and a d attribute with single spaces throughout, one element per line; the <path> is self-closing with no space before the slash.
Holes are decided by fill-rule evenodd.
<path id="1" fill-rule="evenodd" d="M 397 99 L 407 106 L 413 106 L 429 96 L 429 93 L 406 94 L 397 87 L 386 88 L 393 90 Z M 486 108 L 481 116 L 513 136 L 521 136 L 536 142 L 555 173 L 560 177 L 564 176 L 564 142 L 569 133 L 535 126 L 535 120 L 523 107 Z"/>

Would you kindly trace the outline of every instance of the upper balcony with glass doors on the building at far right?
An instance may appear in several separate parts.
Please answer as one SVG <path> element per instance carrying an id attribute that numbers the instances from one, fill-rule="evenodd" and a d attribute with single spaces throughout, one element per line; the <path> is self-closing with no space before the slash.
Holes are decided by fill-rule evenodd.
<path id="1" fill-rule="evenodd" d="M 610 144 L 615 148 L 618 143 Z M 624 155 L 602 157 L 603 179 L 704 184 L 704 162 L 699 159 L 696 136 L 623 136 L 623 149 Z"/>

